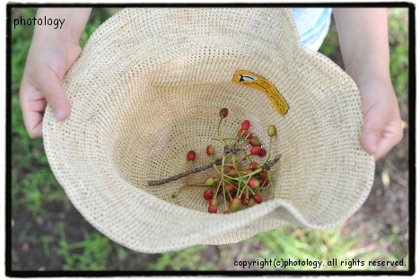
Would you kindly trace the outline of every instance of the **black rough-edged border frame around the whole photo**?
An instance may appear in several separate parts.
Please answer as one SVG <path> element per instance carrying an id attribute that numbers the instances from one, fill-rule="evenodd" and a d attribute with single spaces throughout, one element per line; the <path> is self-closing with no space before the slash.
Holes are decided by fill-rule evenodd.
<path id="1" fill-rule="evenodd" d="M 12 8 L 16 7 L 404 7 L 408 9 L 408 270 L 407 271 L 13 271 L 12 270 Z M 226 4 L 7 4 L 5 131 L 5 275 L 54 276 L 413 276 L 416 249 L 416 31 L 415 4 L 401 3 L 226 3 Z"/>

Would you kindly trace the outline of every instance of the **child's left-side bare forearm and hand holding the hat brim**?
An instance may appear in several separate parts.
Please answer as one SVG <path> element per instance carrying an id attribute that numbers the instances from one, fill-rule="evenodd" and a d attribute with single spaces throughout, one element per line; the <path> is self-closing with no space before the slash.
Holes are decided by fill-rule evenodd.
<path id="1" fill-rule="evenodd" d="M 31 138 L 42 136 L 42 118 L 48 105 L 57 119 L 70 115 L 70 102 L 61 87 L 67 70 L 82 52 L 79 40 L 92 8 L 38 9 L 37 18 L 65 21 L 60 28 L 35 26 L 21 84 L 21 106 Z"/>

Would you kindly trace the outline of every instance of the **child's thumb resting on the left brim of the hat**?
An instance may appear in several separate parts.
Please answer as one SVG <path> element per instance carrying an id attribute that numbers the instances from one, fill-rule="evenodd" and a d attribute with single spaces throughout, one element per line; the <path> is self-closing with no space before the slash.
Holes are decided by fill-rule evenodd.
<path id="1" fill-rule="evenodd" d="M 66 97 L 61 86 L 61 80 L 53 71 L 45 71 L 43 77 L 39 77 L 39 90 L 44 93 L 49 107 L 58 120 L 65 120 L 70 116 L 70 101 Z"/>

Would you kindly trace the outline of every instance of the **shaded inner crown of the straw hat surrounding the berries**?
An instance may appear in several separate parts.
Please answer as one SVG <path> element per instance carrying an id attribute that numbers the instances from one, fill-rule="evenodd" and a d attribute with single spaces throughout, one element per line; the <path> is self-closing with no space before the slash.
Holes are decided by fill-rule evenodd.
<path id="1" fill-rule="evenodd" d="M 229 115 L 220 127 L 223 137 L 235 137 L 241 122 L 248 119 L 251 123 L 249 130 L 268 150 L 267 127 L 276 124 L 279 135 L 273 139 L 271 158 L 280 153 L 283 155 L 271 170 L 276 185 L 275 197 L 290 198 L 288 189 L 279 184 L 281 165 L 287 157 L 281 144 L 284 138 L 282 117 L 264 93 L 232 81 L 186 86 L 143 85 L 143 89 L 137 90 L 144 91 L 138 94 L 142 98 L 130 103 L 127 115 L 120 118 L 124 125 L 116 127 L 124 128 L 116 133 L 118 138 L 112 149 L 118 172 L 129 184 L 172 204 L 206 212 L 208 202 L 203 198 L 204 187 L 188 187 L 178 197 L 171 197 L 187 178 L 153 187 L 148 186 L 147 181 L 188 171 L 186 155 L 190 150 L 197 153 L 193 168 L 210 162 L 206 154 L 209 144 L 214 146 L 215 154 L 220 155 L 223 145 L 214 138 L 217 138 L 219 110 L 226 107 Z M 245 147 L 249 150 L 250 145 Z M 262 164 L 266 157 L 252 156 L 252 159 Z M 244 161 L 244 165 L 248 164 L 248 160 Z M 189 182 L 203 183 L 212 174 L 211 169 L 197 172 L 190 175 Z M 268 199 L 269 195 L 270 192 L 265 192 L 264 198 Z"/>

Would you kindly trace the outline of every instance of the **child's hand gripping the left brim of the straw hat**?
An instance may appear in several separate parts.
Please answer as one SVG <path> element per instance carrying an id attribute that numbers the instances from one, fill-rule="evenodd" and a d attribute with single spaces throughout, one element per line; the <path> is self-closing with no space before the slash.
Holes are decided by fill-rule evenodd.
<path id="1" fill-rule="evenodd" d="M 61 81 L 81 52 L 78 44 L 58 39 L 32 41 L 20 94 L 23 120 L 31 138 L 42 136 L 47 102 L 58 120 L 70 115 L 70 102 Z"/>

